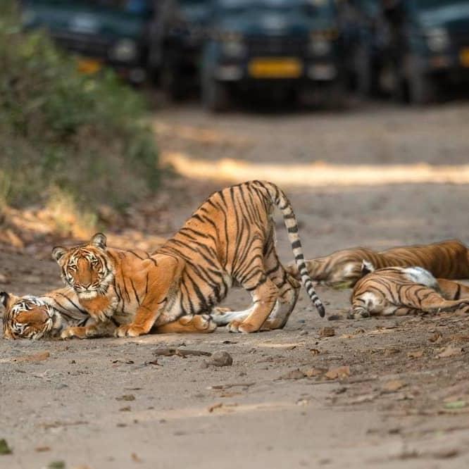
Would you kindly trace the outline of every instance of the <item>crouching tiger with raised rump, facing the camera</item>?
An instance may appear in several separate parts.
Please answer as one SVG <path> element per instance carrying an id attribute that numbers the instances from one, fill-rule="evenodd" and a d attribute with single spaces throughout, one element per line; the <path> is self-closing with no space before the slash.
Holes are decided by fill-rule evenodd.
<path id="1" fill-rule="evenodd" d="M 215 323 L 228 323 L 232 332 L 283 327 L 300 285 L 285 272 L 275 251 L 275 206 L 282 211 L 301 281 L 323 316 L 292 206 L 270 182 L 244 182 L 215 192 L 151 256 L 108 248 L 100 233 L 89 244 L 56 247 L 53 256 L 63 280 L 75 289 L 80 308 L 96 323 L 132 318 L 118 327 L 118 337 L 146 334 L 154 325 L 202 313 L 213 313 Z M 233 284 L 251 293 L 251 308 L 213 311 Z M 87 335 L 87 330 L 70 331 L 70 336 L 80 334 Z"/>

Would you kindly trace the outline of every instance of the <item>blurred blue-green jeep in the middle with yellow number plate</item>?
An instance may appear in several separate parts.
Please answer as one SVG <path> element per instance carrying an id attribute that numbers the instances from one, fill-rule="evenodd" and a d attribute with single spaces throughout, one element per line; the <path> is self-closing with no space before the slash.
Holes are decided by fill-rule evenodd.
<path id="1" fill-rule="evenodd" d="M 202 100 L 223 111 L 240 89 L 312 91 L 343 99 L 334 0 L 214 0 L 201 68 Z"/>

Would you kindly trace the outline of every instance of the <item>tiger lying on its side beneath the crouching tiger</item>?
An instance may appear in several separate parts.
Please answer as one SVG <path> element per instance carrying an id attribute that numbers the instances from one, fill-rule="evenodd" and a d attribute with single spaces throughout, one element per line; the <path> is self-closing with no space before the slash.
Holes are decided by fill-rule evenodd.
<path id="1" fill-rule="evenodd" d="M 85 326 L 88 337 L 104 337 L 111 336 L 118 325 L 112 321 L 96 324 L 78 306 L 77 295 L 70 287 L 44 296 L 15 296 L 1 292 L 0 301 L 5 307 L 5 339 L 65 338 L 70 336 L 70 328 Z M 173 323 L 157 327 L 155 332 L 213 332 L 216 327 L 209 315 L 186 315 Z"/>

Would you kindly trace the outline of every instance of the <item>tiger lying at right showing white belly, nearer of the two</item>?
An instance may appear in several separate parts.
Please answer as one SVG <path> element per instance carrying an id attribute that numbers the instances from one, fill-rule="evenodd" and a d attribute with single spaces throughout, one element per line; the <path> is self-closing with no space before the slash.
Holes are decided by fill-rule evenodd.
<path id="1" fill-rule="evenodd" d="M 461 310 L 469 312 L 469 287 L 436 279 L 420 267 L 375 270 L 363 261 L 363 277 L 351 294 L 349 319 Z"/>

